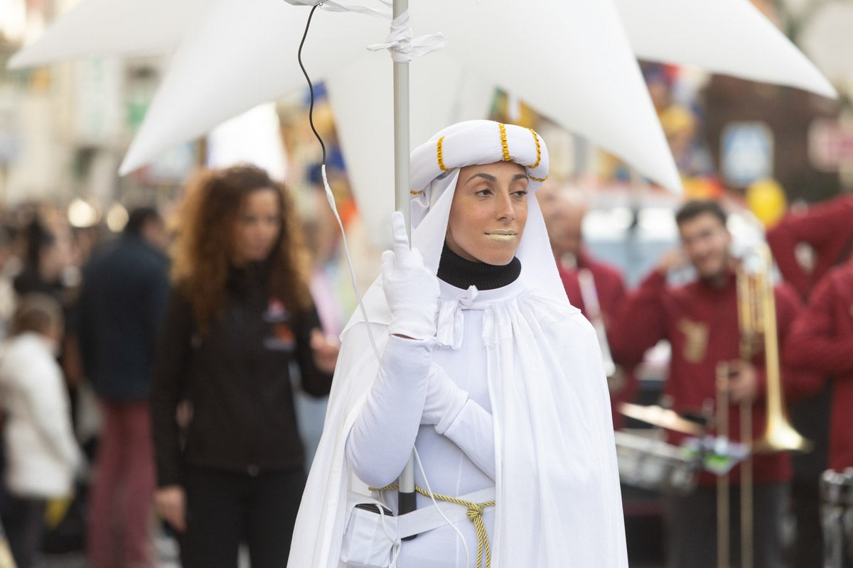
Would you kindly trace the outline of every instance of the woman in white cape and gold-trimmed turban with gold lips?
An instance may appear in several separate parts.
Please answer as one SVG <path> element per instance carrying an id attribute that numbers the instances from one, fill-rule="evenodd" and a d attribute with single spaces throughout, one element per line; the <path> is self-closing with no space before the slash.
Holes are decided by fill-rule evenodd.
<path id="1" fill-rule="evenodd" d="M 341 336 L 292 568 L 344 566 L 347 491 L 391 485 L 413 447 L 418 487 L 491 499 L 440 502 L 472 511 L 403 541 L 399 568 L 627 566 L 601 352 L 550 252 L 547 175 L 542 139 L 509 124 L 458 123 L 412 152 L 413 250 L 395 214 L 369 323 Z M 373 495 L 396 511 L 395 491 Z"/>

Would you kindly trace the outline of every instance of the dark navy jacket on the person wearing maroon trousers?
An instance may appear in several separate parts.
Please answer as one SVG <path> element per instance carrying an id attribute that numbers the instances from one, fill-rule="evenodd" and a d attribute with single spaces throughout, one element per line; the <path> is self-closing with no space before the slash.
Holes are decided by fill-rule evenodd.
<path id="1" fill-rule="evenodd" d="M 86 378 L 112 401 L 148 400 L 168 260 L 141 237 L 105 244 L 83 269 L 77 334 Z"/>

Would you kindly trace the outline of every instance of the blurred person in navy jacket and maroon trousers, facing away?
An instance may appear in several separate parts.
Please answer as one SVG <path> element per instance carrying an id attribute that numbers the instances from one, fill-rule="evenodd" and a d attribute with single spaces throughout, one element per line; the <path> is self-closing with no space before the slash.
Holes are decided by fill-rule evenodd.
<path id="1" fill-rule="evenodd" d="M 92 568 L 153 565 L 148 399 L 169 295 L 166 239 L 156 209 L 133 209 L 122 236 L 96 250 L 83 270 L 78 341 L 84 375 L 102 410 L 87 526 Z"/>

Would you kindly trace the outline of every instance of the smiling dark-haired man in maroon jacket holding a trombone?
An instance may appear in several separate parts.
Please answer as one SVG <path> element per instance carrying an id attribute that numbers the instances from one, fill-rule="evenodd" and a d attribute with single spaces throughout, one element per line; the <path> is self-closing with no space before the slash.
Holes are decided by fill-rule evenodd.
<path id="1" fill-rule="evenodd" d="M 764 394 L 766 376 L 764 354 L 750 361 L 740 359 L 738 298 L 735 261 L 729 254 L 731 235 L 726 228 L 726 213 L 713 201 L 693 201 L 676 214 L 682 251 L 673 252 L 659 262 L 659 267 L 645 278 L 625 301 L 611 329 L 611 347 L 619 362 L 641 359 L 648 347 L 661 339 L 670 341 L 672 356 L 669 378 L 664 393 L 677 412 L 699 410 L 707 401 L 716 399 L 716 368 L 728 362 L 732 374 L 728 381 L 728 398 L 732 407 L 728 432 L 740 439 L 738 405 L 753 404 L 752 431 L 764 430 L 766 413 Z M 679 287 L 667 284 L 670 269 L 689 261 L 698 278 Z M 775 290 L 777 328 L 784 339 L 793 318 L 800 309 L 796 293 L 787 287 Z M 819 380 L 818 380 L 819 381 Z M 795 372 L 783 367 L 781 382 L 786 398 L 791 399 L 815 388 L 815 378 L 808 372 Z M 668 433 L 668 442 L 679 445 L 681 434 Z M 753 459 L 753 503 L 755 566 L 782 565 L 780 519 L 786 508 L 787 481 L 791 476 L 791 459 L 786 454 L 756 456 Z M 740 501 L 740 476 L 735 468 L 731 477 L 731 510 Z M 709 473 L 699 476 L 699 487 L 687 496 L 666 497 L 667 554 L 670 568 L 702 568 L 717 565 L 716 480 Z M 733 520 L 738 515 L 733 515 Z M 738 535 L 734 520 L 732 535 Z M 739 546 L 734 538 L 734 551 Z M 737 558 L 737 554 L 734 554 Z"/>

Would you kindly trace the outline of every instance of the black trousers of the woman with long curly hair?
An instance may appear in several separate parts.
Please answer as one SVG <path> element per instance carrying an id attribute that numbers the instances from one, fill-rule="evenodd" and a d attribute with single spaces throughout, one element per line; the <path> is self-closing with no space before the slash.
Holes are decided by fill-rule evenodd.
<path id="1" fill-rule="evenodd" d="M 189 468 L 187 531 L 180 539 L 183 568 L 236 568 L 246 542 L 252 568 L 283 568 L 305 472 L 251 476 Z"/>

